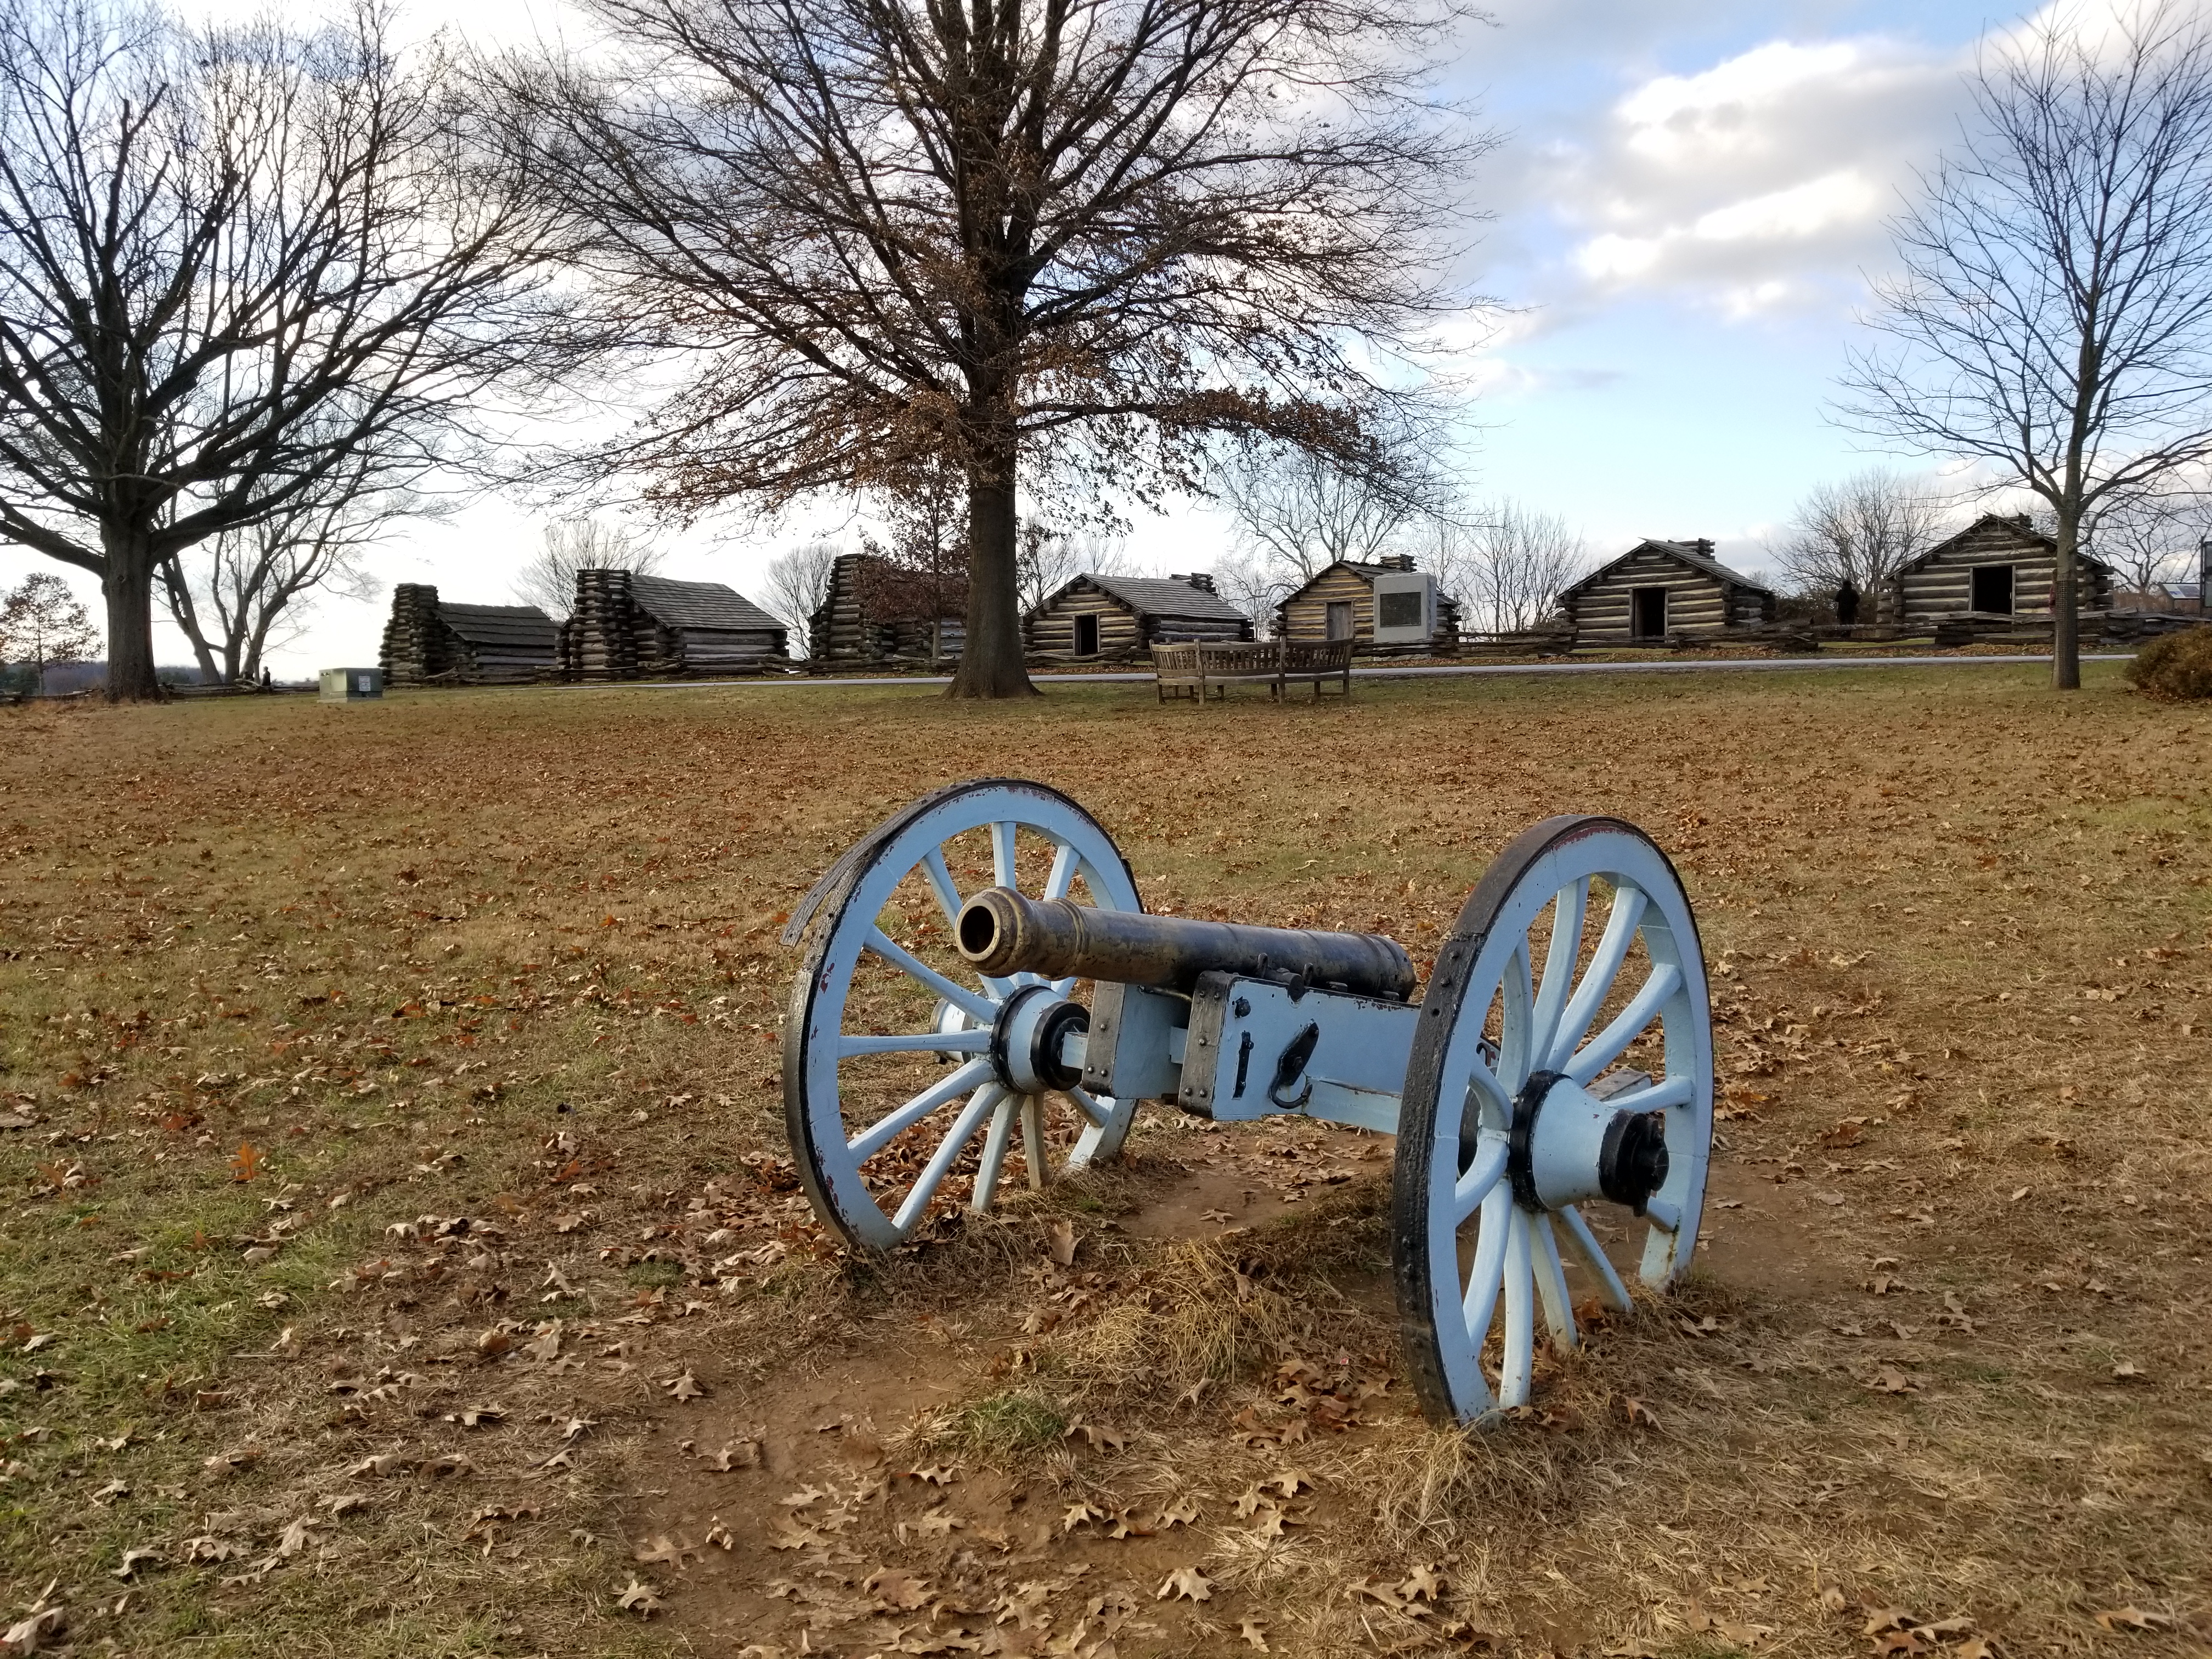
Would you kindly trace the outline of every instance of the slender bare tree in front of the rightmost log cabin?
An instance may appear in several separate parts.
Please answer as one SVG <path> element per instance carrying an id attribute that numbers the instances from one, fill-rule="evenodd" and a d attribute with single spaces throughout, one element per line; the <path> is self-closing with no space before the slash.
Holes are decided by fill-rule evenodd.
<path id="1" fill-rule="evenodd" d="M 2152 4 L 1991 49 L 1975 124 L 1896 226 L 1889 352 L 1847 420 L 1995 462 L 2057 524 L 2053 684 L 2081 684 L 2077 553 L 2108 498 L 2212 456 L 2212 35 Z"/>

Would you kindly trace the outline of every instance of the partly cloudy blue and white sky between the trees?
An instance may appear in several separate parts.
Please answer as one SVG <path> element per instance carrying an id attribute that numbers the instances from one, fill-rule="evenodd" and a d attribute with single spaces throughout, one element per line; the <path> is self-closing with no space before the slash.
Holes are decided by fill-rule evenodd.
<path id="1" fill-rule="evenodd" d="M 250 11 L 197 0 L 197 11 Z M 1885 221 L 1958 137 L 1964 71 L 2017 13 L 1960 0 L 1491 0 L 1444 88 L 1504 139 L 1471 197 L 1473 281 L 1498 310 L 1455 341 L 1478 387 L 1469 491 L 1564 515 L 1593 557 L 1646 535 L 1712 538 L 1756 568 L 1807 489 L 1880 456 L 1829 420 Z M 414 0 L 411 27 L 487 42 L 564 29 L 557 0 Z M 546 511 L 471 498 L 374 560 L 458 602 L 513 602 Z M 759 593 L 805 520 L 666 531 L 666 575 Z M 1203 507 L 1139 515 L 1130 553 L 1208 568 L 1232 526 Z M 0 584 L 60 568 L 0 549 Z M 62 571 L 97 617 L 97 584 Z M 279 677 L 374 664 L 387 602 L 323 599 L 274 653 Z M 161 661 L 190 661 L 161 624 Z"/>

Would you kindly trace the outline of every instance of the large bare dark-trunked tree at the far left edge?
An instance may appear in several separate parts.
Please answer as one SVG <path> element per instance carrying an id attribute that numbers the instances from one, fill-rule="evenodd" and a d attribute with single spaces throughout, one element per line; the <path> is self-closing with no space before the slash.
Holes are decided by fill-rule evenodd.
<path id="1" fill-rule="evenodd" d="M 0 0 L 0 535 L 100 577 L 111 697 L 159 695 L 179 549 L 414 482 L 542 352 L 542 212 L 462 108 L 374 0 Z"/>

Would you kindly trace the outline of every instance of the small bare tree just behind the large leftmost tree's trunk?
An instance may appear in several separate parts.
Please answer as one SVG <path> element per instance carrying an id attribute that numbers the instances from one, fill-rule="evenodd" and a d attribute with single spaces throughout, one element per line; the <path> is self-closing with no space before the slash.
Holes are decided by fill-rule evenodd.
<path id="1" fill-rule="evenodd" d="M 363 555 L 389 522 L 374 500 L 296 502 L 166 557 L 161 597 L 192 644 L 201 681 L 259 679 L 263 661 L 296 633 L 316 593 L 374 599 L 380 584 Z"/>

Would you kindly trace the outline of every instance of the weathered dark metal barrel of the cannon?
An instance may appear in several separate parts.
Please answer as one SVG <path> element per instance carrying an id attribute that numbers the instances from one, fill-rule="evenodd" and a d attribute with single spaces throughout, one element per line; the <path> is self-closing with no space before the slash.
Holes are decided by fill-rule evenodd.
<path id="1" fill-rule="evenodd" d="M 1006 887 L 960 907 L 960 956 L 995 978 L 1042 973 L 1188 991 L 1201 973 L 1294 975 L 1363 995 L 1407 998 L 1413 962 L 1380 933 L 1310 933 L 1188 916 L 1091 909 L 1066 898 L 1022 898 Z"/>

